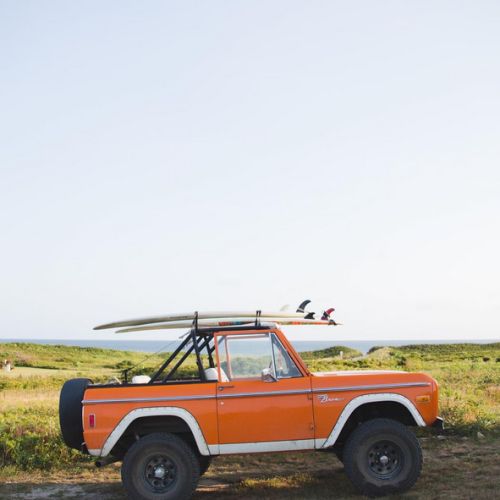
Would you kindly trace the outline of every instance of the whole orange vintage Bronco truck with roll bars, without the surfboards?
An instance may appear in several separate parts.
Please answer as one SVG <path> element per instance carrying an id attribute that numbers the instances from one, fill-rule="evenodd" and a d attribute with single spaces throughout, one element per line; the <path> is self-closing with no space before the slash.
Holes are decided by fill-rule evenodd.
<path id="1" fill-rule="evenodd" d="M 133 499 L 187 499 L 213 457 L 331 451 L 360 493 L 410 488 L 422 451 L 411 427 L 442 427 L 438 385 L 422 373 L 314 373 L 279 323 L 194 324 L 159 369 L 129 381 L 67 381 L 66 444 L 122 461 Z M 196 373 L 186 376 L 187 359 Z"/>

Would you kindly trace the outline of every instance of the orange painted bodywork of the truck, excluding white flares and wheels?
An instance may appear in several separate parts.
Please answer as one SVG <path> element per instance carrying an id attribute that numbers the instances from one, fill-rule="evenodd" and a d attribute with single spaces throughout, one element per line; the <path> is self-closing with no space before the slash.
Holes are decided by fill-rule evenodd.
<path id="1" fill-rule="evenodd" d="M 87 448 L 101 449 L 120 421 L 138 408 L 168 406 L 187 410 L 198 422 L 208 445 L 325 439 L 346 405 L 367 394 L 404 396 L 417 408 L 426 424 L 431 425 L 436 420 L 437 384 L 431 377 L 421 373 L 383 371 L 313 374 L 280 330 L 270 329 L 269 332 L 276 334 L 302 376 L 271 383 L 255 378 L 190 384 L 91 386 L 85 392 L 83 407 Z M 262 335 L 262 330 L 225 331 L 217 335 L 229 333 Z M 400 387 L 391 387 L 397 385 Z M 202 399 L 196 399 L 198 396 Z M 429 398 L 419 401 L 417 396 Z M 177 397 L 193 399 L 175 400 Z M 167 401 L 151 401 L 154 398 Z M 138 401 L 120 402 L 130 399 Z M 99 403 L 99 400 L 108 402 Z M 89 427 L 90 414 L 95 415 L 94 428 Z"/>

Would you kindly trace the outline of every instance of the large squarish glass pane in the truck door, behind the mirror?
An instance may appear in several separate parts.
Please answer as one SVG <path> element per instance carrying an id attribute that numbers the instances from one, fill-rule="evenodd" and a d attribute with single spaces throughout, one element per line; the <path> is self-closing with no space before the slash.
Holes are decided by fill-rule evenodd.
<path id="1" fill-rule="evenodd" d="M 223 335 L 218 340 L 219 363 L 229 380 L 260 379 L 262 370 L 275 376 L 273 348 L 268 333 L 257 335 Z"/>

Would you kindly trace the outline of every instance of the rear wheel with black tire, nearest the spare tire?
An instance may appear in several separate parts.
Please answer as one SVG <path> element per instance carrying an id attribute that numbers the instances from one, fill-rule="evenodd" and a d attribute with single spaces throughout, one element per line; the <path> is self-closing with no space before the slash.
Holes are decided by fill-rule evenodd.
<path id="1" fill-rule="evenodd" d="M 199 476 L 198 457 L 175 434 L 144 436 L 129 448 L 122 464 L 122 482 L 133 500 L 191 498 Z"/>

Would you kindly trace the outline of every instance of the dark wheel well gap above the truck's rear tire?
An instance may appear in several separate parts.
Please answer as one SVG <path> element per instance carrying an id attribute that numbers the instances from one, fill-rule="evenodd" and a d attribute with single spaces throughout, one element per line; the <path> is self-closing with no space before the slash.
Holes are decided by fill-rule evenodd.
<path id="1" fill-rule="evenodd" d="M 169 432 L 176 434 L 186 441 L 196 453 L 198 446 L 189 425 L 180 417 L 170 415 L 158 415 L 151 417 L 140 417 L 135 419 L 120 436 L 111 450 L 110 454 L 122 459 L 127 450 L 138 439 L 152 434 L 153 432 Z"/>

